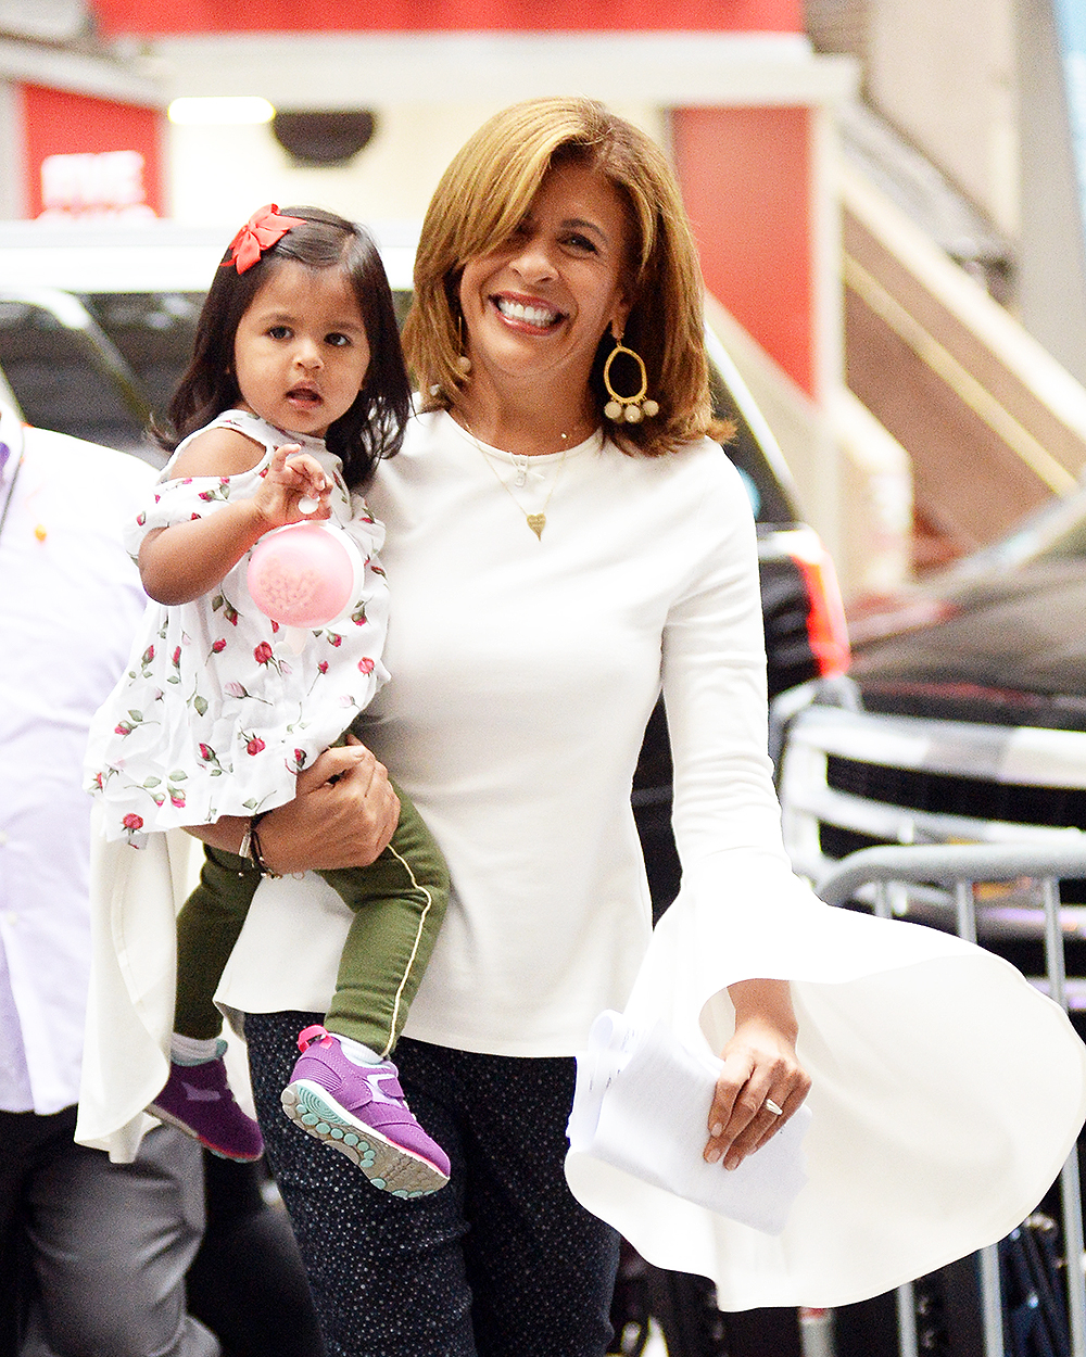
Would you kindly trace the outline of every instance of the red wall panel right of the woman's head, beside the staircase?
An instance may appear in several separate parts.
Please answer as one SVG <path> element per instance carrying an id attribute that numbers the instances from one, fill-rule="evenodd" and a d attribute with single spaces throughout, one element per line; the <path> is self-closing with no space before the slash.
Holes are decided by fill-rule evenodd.
<path id="1" fill-rule="evenodd" d="M 706 288 L 813 395 L 809 110 L 672 117 Z"/>

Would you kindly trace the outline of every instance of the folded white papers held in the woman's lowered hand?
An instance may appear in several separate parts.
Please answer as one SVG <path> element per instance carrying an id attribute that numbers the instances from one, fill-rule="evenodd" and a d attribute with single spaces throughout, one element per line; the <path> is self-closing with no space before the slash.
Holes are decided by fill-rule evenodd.
<path id="1" fill-rule="evenodd" d="M 707 1164 L 702 1151 L 721 1064 L 683 1046 L 662 1022 L 642 1033 L 622 1014 L 600 1014 L 577 1057 L 570 1152 L 779 1235 L 806 1182 L 801 1143 L 810 1111 L 801 1107 L 738 1168 Z"/>

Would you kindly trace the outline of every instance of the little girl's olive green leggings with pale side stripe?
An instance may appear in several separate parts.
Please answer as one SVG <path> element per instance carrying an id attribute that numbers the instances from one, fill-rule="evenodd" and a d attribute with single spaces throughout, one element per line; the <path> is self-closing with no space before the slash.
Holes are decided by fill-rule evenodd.
<path id="1" fill-rule="evenodd" d="M 326 1023 L 381 1056 L 407 1019 L 449 898 L 441 851 L 398 787 L 396 794 L 399 825 L 380 858 L 319 874 L 354 911 Z M 174 1030 L 183 1037 L 219 1035 L 223 1015 L 212 996 L 259 883 L 247 858 L 205 849 L 200 885 L 178 915 Z"/>

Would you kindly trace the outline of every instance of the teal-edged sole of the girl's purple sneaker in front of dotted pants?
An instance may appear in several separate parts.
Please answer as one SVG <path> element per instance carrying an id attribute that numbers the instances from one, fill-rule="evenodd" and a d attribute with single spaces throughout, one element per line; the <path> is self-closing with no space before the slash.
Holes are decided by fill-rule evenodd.
<path id="1" fill-rule="evenodd" d="M 428 1197 L 448 1182 L 440 1168 L 352 1117 L 311 1079 L 288 1084 L 280 1101 L 296 1126 L 346 1155 L 381 1191 L 391 1191 L 394 1197 Z"/>

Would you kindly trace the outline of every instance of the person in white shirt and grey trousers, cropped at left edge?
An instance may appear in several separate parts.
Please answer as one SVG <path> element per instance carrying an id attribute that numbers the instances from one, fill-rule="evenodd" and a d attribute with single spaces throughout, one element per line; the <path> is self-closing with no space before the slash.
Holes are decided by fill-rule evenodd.
<path id="1" fill-rule="evenodd" d="M 200 1147 L 160 1128 L 126 1166 L 72 1139 L 90 970 L 83 749 L 147 604 L 121 518 L 153 479 L 137 457 L 0 406 L 4 1357 L 219 1353 L 185 1299 L 204 1231 Z"/>

